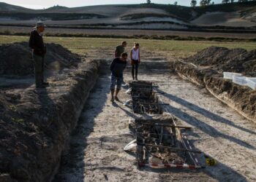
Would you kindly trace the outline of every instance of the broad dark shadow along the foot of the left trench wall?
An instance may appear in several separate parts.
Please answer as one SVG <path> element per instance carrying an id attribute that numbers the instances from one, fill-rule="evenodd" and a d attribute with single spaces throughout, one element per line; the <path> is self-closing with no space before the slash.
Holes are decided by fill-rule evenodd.
<path id="1" fill-rule="evenodd" d="M 85 160 L 84 151 L 89 146 L 87 138 L 91 132 L 94 132 L 94 119 L 102 112 L 105 101 L 108 99 L 108 93 L 110 92 L 110 90 L 105 89 L 105 87 L 110 85 L 110 78 L 106 75 L 108 72 L 102 74 L 104 75 L 100 75 L 97 84 L 91 90 L 89 98 L 84 105 L 83 112 L 86 115 L 83 116 L 83 113 L 81 114 L 78 126 L 72 132 L 69 151 L 61 159 L 61 167 L 59 173 L 53 180 L 54 182 L 67 181 L 67 178 L 70 180 L 70 176 L 74 176 L 77 182 L 82 182 L 86 178 L 84 171 L 86 170 L 86 165 L 90 165 L 89 162 L 83 162 Z M 91 101 L 99 96 L 102 99 L 97 103 L 97 106 L 91 105 Z M 87 114 L 86 111 L 89 110 L 93 111 Z M 76 169 L 77 167 L 79 167 L 79 170 Z M 67 173 L 70 175 L 67 175 Z"/>

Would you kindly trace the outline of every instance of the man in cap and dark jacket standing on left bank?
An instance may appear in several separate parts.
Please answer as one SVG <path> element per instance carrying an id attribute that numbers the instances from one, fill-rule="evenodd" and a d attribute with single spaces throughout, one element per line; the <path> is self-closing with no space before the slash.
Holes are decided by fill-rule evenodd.
<path id="1" fill-rule="evenodd" d="M 31 31 L 29 39 L 29 47 L 32 49 L 34 59 L 34 76 L 37 88 L 48 87 L 48 82 L 44 82 L 44 67 L 45 67 L 45 54 L 46 47 L 42 39 L 42 32 L 45 31 L 45 25 L 42 22 L 37 22 Z"/>

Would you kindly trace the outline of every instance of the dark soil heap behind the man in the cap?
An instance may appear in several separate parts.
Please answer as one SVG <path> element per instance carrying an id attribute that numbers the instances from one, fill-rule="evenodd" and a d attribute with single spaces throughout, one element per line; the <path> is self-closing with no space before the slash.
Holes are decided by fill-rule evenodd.
<path id="1" fill-rule="evenodd" d="M 46 44 L 46 68 L 61 71 L 78 66 L 80 58 L 59 44 Z M 28 42 L 0 46 L 0 75 L 28 76 L 34 74 L 34 63 Z"/>

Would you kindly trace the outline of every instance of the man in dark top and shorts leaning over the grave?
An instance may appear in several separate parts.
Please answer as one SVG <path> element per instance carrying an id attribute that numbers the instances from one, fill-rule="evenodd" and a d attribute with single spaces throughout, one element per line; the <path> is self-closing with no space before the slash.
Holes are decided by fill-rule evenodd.
<path id="1" fill-rule="evenodd" d="M 110 70 L 112 72 L 111 75 L 111 102 L 114 102 L 114 99 L 119 101 L 117 95 L 118 92 L 121 90 L 121 82 L 123 78 L 124 69 L 127 66 L 127 53 L 122 53 L 121 58 L 115 58 L 110 66 Z M 115 93 L 115 87 L 116 87 L 116 96 L 114 98 Z"/>

